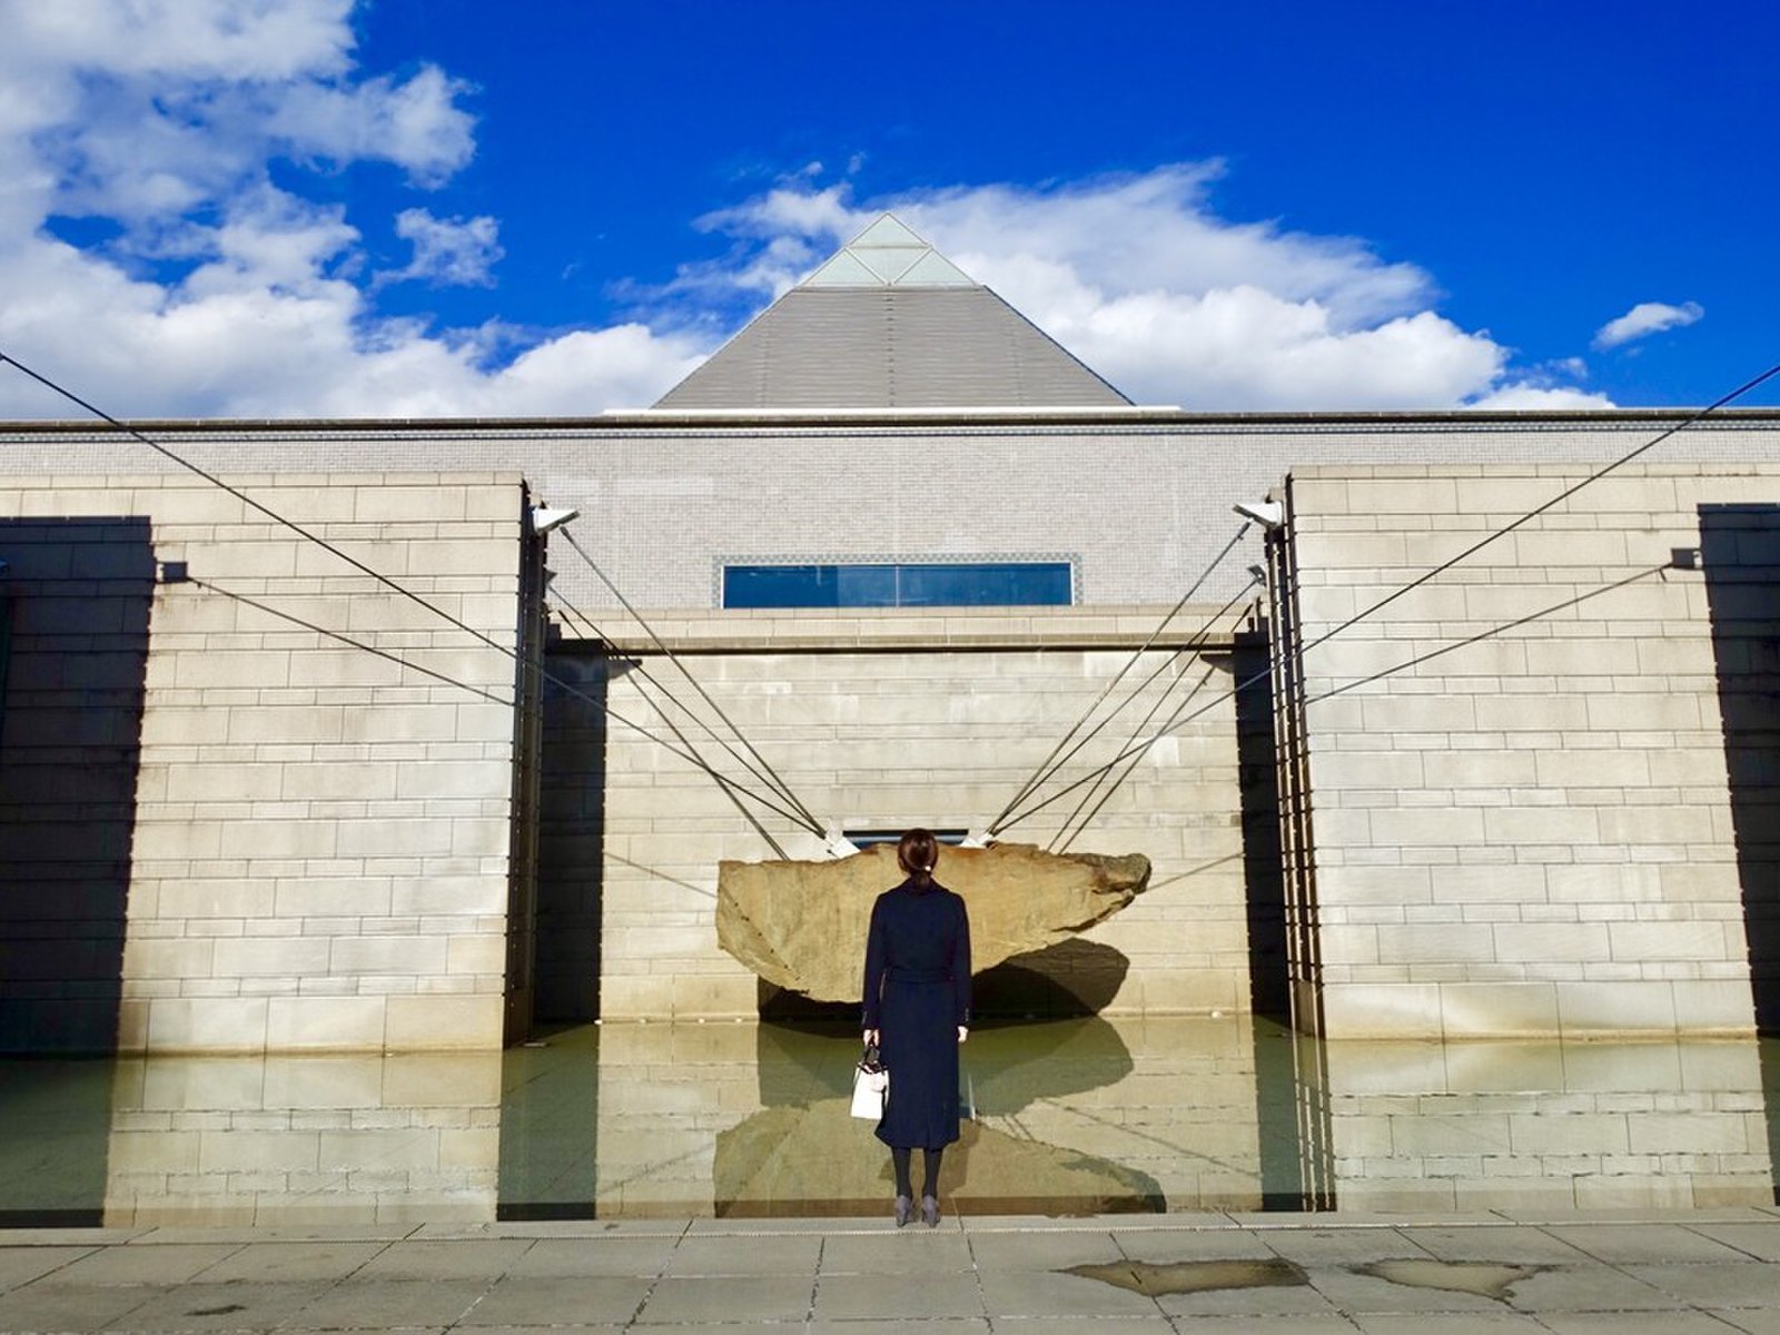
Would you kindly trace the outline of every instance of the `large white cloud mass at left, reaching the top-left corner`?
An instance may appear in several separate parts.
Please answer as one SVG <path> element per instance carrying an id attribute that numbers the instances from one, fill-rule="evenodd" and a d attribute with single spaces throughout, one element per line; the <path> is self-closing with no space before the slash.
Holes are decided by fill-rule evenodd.
<path id="1" fill-rule="evenodd" d="M 502 251 L 491 217 L 408 208 L 413 258 L 376 276 L 344 206 L 274 183 L 276 158 L 381 160 L 429 189 L 475 151 L 465 84 L 363 75 L 351 9 L 0 0 L 0 345 L 135 417 L 575 415 L 685 376 L 708 340 L 377 315 L 383 283 L 488 283 Z M 57 217 L 116 235 L 82 249 Z M 75 413 L 0 370 L 0 415 Z"/>

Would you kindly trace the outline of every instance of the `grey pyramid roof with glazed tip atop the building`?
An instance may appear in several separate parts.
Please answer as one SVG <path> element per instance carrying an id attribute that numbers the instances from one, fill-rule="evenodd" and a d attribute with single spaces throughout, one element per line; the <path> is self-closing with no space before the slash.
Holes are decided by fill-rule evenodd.
<path id="1" fill-rule="evenodd" d="M 1050 335 L 885 214 L 655 408 L 1123 408 L 1129 402 Z"/>

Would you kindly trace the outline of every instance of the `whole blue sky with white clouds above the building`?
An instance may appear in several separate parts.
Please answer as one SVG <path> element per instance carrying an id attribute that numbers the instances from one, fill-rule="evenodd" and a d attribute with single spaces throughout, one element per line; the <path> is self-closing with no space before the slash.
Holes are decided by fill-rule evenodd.
<path id="1" fill-rule="evenodd" d="M 0 0 L 0 349 L 637 408 L 892 208 L 1139 402 L 1698 404 L 1780 360 L 1776 14 Z"/>

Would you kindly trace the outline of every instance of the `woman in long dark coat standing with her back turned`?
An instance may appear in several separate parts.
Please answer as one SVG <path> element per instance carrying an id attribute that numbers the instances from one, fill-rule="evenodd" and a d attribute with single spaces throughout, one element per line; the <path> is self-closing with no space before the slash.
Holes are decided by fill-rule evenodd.
<path id="1" fill-rule="evenodd" d="M 908 1168 L 922 1150 L 920 1218 L 940 1223 L 940 1157 L 958 1139 L 958 1045 L 970 1036 L 970 918 L 933 879 L 940 842 L 910 829 L 895 849 L 908 879 L 872 904 L 865 940 L 865 1041 L 890 1070 L 878 1139 L 895 1168 L 895 1225 L 915 1218 Z"/>

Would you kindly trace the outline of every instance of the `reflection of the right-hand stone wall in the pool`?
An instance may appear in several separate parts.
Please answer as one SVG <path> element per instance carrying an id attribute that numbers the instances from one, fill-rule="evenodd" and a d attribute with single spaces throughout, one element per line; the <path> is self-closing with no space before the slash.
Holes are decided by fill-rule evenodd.
<path id="1" fill-rule="evenodd" d="M 1324 1063 L 1342 1209 L 1775 1203 L 1753 1040 L 1331 1043 Z"/>

